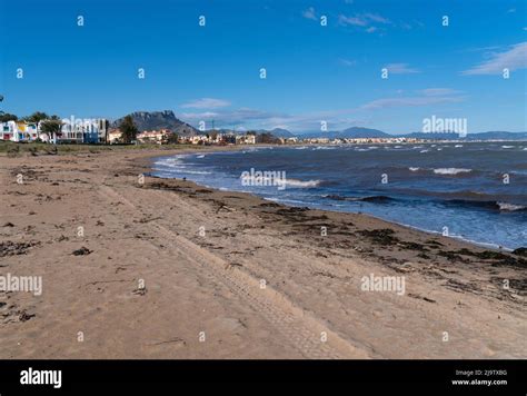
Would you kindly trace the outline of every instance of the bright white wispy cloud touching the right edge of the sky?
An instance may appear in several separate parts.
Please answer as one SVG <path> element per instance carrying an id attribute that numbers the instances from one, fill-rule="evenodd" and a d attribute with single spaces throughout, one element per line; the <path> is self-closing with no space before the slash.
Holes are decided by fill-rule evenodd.
<path id="1" fill-rule="evenodd" d="M 490 59 L 463 71 L 463 75 L 499 75 L 505 68 L 510 71 L 527 67 L 527 41 L 510 46 L 508 50 L 493 52 Z"/>

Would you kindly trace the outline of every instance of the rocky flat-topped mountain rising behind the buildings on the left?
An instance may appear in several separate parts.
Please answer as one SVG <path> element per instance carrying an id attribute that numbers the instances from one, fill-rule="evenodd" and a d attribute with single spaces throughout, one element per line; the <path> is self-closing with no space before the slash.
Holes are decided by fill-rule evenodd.
<path id="1" fill-rule="evenodd" d="M 198 130 L 187 122 L 178 119 L 172 110 L 165 111 L 135 111 L 130 113 L 140 132 L 145 130 L 170 129 L 179 136 L 196 136 Z M 123 118 L 112 122 L 113 128 L 118 128 Z"/>

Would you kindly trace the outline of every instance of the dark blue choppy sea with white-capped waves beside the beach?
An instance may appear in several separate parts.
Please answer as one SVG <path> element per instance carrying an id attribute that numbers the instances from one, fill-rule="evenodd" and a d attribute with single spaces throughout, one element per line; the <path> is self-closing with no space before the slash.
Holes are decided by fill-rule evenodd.
<path id="1" fill-rule="evenodd" d="M 251 168 L 285 171 L 286 185 L 243 186 Z M 483 245 L 527 246 L 527 142 L 248 148 L 159 158 L 153 174 Z"/>

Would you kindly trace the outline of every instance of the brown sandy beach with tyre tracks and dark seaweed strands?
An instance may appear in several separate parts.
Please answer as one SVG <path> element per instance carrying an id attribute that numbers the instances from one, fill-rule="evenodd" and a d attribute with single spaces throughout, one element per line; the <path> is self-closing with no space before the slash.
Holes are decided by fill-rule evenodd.
<path id="1" fill-rule="evenodd" d="M 0 358 L 527 357 L 521 254 L 140 177 L 167 154 L 0 157 L 0 275 L 42 279 Z"/>

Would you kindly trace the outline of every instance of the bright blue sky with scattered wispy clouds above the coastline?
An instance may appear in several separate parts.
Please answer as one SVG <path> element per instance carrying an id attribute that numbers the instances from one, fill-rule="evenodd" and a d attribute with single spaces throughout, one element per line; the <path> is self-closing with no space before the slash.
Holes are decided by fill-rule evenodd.
<path id="1" fill-rule="evenodd" d="M 19 116 L 525 131 L 526 62 L 525 0 L 0 0 L 2 109 Z"/>

